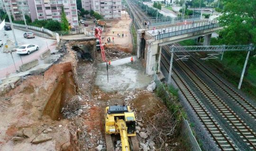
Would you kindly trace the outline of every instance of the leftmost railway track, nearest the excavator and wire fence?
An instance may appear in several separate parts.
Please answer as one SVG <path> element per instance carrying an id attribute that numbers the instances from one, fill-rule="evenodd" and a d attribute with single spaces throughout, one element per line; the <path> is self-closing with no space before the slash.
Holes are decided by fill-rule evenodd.
<path id="1" fill-rule="evenodd" d="M 169 72 L 170 63 L 163 54 L 161 54 L 161 64 Z M 205 128 L 211 134 L 215 143 L 218 144 L 219 149 L 221 149 L 222 151 L 240 151 L 230 139 L 228 134 L 223 131 L 223 129 L 219 126 L 218 122 L 210 115 L 209 111 L 196 97 L 188 84 L 186 84 L 186 82 L 182 79 L 182 77 L 175 69 L 173 69 L 172 77 L 175 84 L 179 87 L 192 109 L 195 111 Z"/>

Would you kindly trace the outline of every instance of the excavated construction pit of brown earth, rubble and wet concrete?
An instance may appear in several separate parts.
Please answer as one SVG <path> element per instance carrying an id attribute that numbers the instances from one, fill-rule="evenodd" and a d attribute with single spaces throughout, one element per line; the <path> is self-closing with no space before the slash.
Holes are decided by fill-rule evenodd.
<path id="1" fill-rule="evenodd" d="M 166 108 L 146 90 L 153 79 L 141 60 L 131 64 L 130 53 L 107 48 L 112 60 L 108 82 L 101 53 L 83 58 L 78 49 L 95 48 L 76 44 L 66 42 L 60 61 L 39 75 L 20 77 L 15 88 L 0 96 L 0 151 L 106 151 L 104 110 L 115 104 L 134 111 L 141 151 L 182 150 L 178 138 L 168 138 L 157 149 L 147 135 L 148 119 Z M 119 137 L 115 151 L 121 151 Z"/>

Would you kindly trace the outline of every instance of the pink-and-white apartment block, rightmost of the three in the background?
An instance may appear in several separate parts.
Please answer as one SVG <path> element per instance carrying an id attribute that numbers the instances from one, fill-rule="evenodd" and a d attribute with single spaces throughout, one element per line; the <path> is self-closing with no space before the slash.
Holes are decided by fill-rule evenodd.
<path id="1" fill-rule="evenodd" d="M 82 8 L 93 10 L 105 19 L 121 18 L 121 0 L 82 0 Z"/>

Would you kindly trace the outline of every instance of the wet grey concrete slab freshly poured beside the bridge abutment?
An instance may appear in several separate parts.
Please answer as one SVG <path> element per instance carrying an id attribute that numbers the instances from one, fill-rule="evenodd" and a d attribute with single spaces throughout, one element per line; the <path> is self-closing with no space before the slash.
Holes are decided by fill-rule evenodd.
<path id="1" fill-rule="evenodd" d="M 109 83 L 107 80 L 106 63 L 98 65 L 95 85 L 105 92 L 133 91 L 136 88 L 143 88 L 150 84 L 152 77 L 146 75 L 145 69 L 136 56 L 133 57 L 133 64 L 130 57 L 111 62 L 109 66 Z"/>

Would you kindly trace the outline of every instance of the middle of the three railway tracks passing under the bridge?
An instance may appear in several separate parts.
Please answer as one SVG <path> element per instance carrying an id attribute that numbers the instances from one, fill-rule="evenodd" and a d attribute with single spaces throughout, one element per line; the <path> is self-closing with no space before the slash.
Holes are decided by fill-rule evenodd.
<path id="1" fill-rule="evenodd" d="M 169 50 L 169 48 L 166 47 L 167 46 L 164 46 L 166 50 Z M 165 52 L 167 52 L 169 56 L 171 55 L 169 51 Z M 234 131 L 247 143 L 247 145 L 249 145 L 249 148 L 256 150 L 256 133 L 253 132 L 253 130 L 250 129 L 250 127 L 247 126 L 247 124 L 242 121 L 241 118 L 238 117 L 236 113 L 230 109 L 229 106 L 222 101 L 219 96 L 215 94 L 182 60 L 176 60 L 175 62 L 219 114 L 221 114 L 229 125 L 232 126 Z"/>

